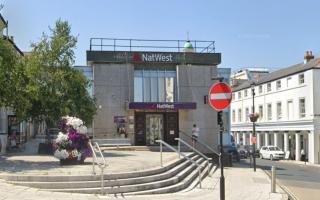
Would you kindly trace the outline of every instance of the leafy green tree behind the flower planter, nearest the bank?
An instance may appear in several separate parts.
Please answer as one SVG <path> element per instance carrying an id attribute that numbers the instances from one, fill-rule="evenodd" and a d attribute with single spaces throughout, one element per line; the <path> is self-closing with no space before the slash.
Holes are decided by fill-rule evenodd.
<path id="1" fill-rule="evenodd" d="M 64 115 L 73 115 L 90 123 L 96 112 L 95 99 L 87 92 L 89 81 L 72 68 L 77 38 L 66 21 L 58 20 L 50 35 L 43 34 L 32 44 L 27 59 L 30 98 L 28 116 L 55 126 Z"/>

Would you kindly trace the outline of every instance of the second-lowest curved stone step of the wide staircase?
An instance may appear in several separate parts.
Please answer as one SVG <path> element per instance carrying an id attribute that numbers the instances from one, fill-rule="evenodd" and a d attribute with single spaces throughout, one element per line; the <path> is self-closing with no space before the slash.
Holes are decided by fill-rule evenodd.
<path id="1" fill-rule="evenodd" d="M 199 156 L 193 156 L 192 159 L 196 161 L 199 159 Z M 164 179 L 169 179 L 170 177 L 175 176 L 178 172 L 182 171 L 186 167 L 188 167 L 191 163 L 188 161 L 179 162 L 178 165 L 173 166 L 171 169 L 164 171 L 155 175 L 134 177 L 134 178 L 123 178 L 123 179 L 108 179 L 105 180 L 105 186 L 108 187 L 116 187 L 116 186 L 124 186 L 124 185 L 132 185 L 132 184 L 141 184 L 147 182 L 160 181 Z M 101 187 L 101 181 L 67 181 L 67 182 L 39 182 L 39 181 L 8 181 L 8 183 L 16 184 L 16 185 L 24 185 L 28 187 L 36 187 L 41 189 L 61 189 L 61 188 L 94 188 Z"/>

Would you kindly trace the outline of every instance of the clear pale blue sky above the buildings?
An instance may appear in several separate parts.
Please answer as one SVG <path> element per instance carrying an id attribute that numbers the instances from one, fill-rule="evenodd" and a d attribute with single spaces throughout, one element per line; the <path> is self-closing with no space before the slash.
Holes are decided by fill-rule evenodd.
<path id="1" fill-rule="evenodd" d="M 0 0 L 9 35 L 30 51 L 57 19 L 78 37 L 76 65 L 90 38 L 214 40 L 219 67 L 271 71 L 320 55 L 319 0 Z"/>

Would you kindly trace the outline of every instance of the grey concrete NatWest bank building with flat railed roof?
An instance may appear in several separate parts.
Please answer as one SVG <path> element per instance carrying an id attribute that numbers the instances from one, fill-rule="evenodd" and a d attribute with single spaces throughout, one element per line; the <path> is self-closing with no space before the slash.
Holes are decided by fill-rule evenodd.
<path id="1" fill-rule="evenodd" d="M 221 62 L 214 42 L 93 38 L 87 62 L 98 103 L 94 138 L 176 144 L 195 123 L 217 145 L 216 112 L 205 99 Z"/>

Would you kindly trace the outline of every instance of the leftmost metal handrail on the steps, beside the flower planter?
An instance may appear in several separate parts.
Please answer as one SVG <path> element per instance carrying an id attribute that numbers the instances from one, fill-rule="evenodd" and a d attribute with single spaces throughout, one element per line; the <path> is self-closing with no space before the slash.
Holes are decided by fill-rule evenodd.
<path id="1" fill-rule="evenodd" d="M 104 156 L 103 156 L 103 153 L 100 149 L 100 146 L 97 142 L 94 143 L 94 147 L 98 150 L 101 158 L 102 158 L 102 162 L 98 162 L 98 159 L 97 159 L 97 154 L 95 152 L 95 148 L 92 146 L 91 144 L 91 141 L 89 141 L 89 146 L 91 148 L 91 151 L 92 151 L 92 155 L 93 155 L 93 161 L 92 161 L 92 173 L 93 174 L 96 174 L 95 172 L 95 163 L 98 164 L 98 167 L 101 169 L 101 195 L 104 194 L 104 168 L 107 167 L 107 164 L 106 164 L 106 160 L 104 159 Z"/>

